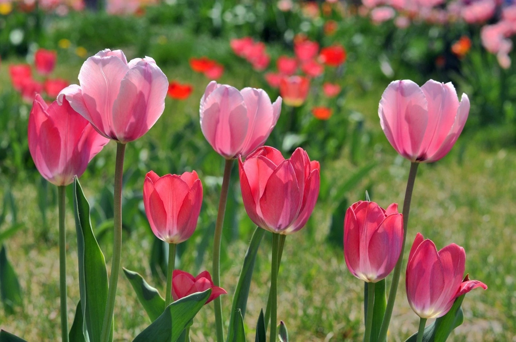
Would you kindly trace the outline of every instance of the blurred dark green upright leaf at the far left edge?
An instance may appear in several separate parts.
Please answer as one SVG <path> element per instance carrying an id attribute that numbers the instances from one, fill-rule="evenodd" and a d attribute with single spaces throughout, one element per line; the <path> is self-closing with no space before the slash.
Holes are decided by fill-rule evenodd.
<path id="1" fill-rule="evenodd" d="M 14 268 L 7 259 L 7 251 L 2 245 L 0 250 L 0 299 L 7 314 L 13 314 L 14 308 L 23 304 L 22 290 Z"/>

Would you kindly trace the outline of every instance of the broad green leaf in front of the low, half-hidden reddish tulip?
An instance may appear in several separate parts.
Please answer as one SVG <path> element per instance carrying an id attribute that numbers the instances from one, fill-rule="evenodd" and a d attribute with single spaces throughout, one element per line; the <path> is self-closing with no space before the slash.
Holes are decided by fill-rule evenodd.
<path id="1" fill-rule="evenodd" d="M 176 300 L 166 307 L 154 322 L 143 330 L 133 342 L 175 342 L 183 330 L 190 326 L 193 317 L 197 315 L 211 295 L 212 289 L 197 292 Z"/>

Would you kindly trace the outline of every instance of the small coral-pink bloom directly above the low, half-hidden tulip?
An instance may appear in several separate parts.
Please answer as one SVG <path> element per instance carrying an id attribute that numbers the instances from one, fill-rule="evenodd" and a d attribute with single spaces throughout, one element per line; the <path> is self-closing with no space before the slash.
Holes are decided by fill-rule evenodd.
<path id="1" fill-rule="evenodd" d="M 202 204 L 202 184 L 195 171 L 159 177 L 150 171 L 143 182 L 143 204 L 154 235 L 169 244 L 193 234 Z"/>

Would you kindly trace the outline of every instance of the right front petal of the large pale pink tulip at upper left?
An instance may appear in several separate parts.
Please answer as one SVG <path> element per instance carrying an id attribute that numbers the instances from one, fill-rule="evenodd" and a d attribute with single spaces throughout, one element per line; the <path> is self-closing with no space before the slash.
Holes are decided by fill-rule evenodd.
<path id="1" fill-rule="evenodd" d="M 140 60 L 120 81 L 112 105 L 112 126 L 118 141 L 125 143 L 145 134 L 162 115 L 168 80 L 159 67 Z"/>

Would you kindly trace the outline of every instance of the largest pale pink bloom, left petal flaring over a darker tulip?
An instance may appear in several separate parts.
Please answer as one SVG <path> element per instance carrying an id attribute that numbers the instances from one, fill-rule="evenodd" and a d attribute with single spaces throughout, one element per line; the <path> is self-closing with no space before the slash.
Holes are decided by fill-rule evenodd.
<path id="1" fill-rule="evenodd" d="M 79 83 L 59 93 L 59 104 L 66 97 L 99 133 L 123 144 L 147 133 L 165 109 L 168 80 L 150 57 L 127 63 L 122 50 L 105 49 L 84 62 Z"/>

